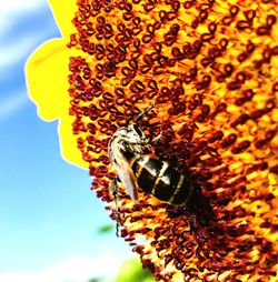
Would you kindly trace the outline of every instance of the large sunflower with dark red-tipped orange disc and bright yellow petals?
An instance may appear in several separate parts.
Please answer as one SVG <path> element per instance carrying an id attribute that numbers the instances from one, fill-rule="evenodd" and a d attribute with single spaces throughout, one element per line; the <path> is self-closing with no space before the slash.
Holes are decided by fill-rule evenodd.
<path id="1" fill-rule="evenodd" d="M 107 153 L 141 122 L 199 192 L 186 208 L 119 192 L 121 235 L 161 281 L 277 281 L 278 6 L 275 1 L 50 1 L 61 39 L 27 64 L 59 119 L 62 153 L 89 168 L 116 218 Z"/>

